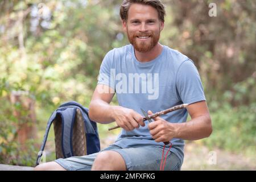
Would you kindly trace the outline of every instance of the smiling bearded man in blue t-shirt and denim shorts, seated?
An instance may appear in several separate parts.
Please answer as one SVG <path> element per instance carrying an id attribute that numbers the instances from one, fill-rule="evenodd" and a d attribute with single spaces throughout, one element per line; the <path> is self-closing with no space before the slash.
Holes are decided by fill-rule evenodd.
<path id="1" fill-rule="evenodd" d="M 212 123 L 199 72 L 187 56 L 159 43 L 165 14 L 160 0 L 125 0 L 121 5 L 130 44 L 104 57 L 89 106 L 93 121 L 122 127 L 117 140 L 95 154 L 57 159 L 37 170 L 180 170 L 184 140 L 209 137 Z M 157 94 L 149 97 L 148 88 Z M 110 105 L 115 93 L 118 106 Z M 189 105 L 143 122 L 141 108 L 150 115 L 180 104 Z"/>

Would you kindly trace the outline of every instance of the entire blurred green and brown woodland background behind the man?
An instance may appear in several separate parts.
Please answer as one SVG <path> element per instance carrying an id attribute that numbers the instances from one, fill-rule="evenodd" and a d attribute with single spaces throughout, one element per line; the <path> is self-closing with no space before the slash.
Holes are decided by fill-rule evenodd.
<path id="1" fill-rule="evenodd" d="M 0 1 L 0 163 L 33 166 L 52 111 L 69 100 L 88 107 L 105 54 L 129 43 L 121 2 Z M 212 135 L 197 145 L 255 158 L 255 1 L 163 2 L 160 43 L 195 62 L 212 116 Z M 17 139 L 22 123 L 34 123 L 25 143 Z M 98 125 L 102 143 L 120 131 L 109 132 L 113 125 Z M 48 161 L 54 150 L 51 131 Z"/>

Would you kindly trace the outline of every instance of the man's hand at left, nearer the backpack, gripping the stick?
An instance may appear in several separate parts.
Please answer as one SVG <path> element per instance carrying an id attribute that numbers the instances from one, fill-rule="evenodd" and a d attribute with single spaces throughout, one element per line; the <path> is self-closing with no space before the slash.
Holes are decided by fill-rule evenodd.
<path id="1" fill-rule="evenodd" d="M 126 131 L 134 130 L 135 128 L 138 128 L 139 125 L 145 126 L 142 115 L 133 109 L 128 109 L 122 106 L 112 107 L 115 122 Z"/>

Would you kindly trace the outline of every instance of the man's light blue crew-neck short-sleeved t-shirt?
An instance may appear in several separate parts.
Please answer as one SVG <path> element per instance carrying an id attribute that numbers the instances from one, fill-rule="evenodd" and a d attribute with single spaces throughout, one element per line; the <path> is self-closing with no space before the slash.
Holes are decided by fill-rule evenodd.
<path id="1" fill-rule="evenodd" d="M 108 85 L 115 90 L 118 104 L 142 114 L 141 108 L 153 113 L 175 105 L 204 101 L 204 90 L 199 72 L 193 61 L 182 53 L 163 46 L 154 60 L 141 63 L 135 57 L 134 47 L 129 44 L 109 51 L 100 68 L 98 84 Z M 186 122 L 187 109 L 161 115 L 172 123 Z M 146 126 L 126 131 L 122 129 L 115 145 L 122 148 L 138 145 L 163 146 L 155 142 Z M 184 158 L 184 140 L 173 138 L 172 148 L 181 163 Z"/>

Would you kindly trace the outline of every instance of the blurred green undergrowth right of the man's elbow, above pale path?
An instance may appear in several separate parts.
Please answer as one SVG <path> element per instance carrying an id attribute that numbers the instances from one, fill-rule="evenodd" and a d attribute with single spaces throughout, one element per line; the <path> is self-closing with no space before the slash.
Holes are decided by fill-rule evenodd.
<path id="1" fill-rule="evenodd" d="M 255 155 L 256 104 L 231 107 L 224 104 L 211 114 L 213 133 L 203 143 L 213 148 Z"/>

